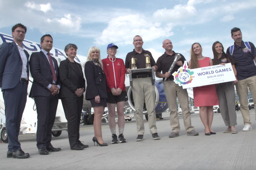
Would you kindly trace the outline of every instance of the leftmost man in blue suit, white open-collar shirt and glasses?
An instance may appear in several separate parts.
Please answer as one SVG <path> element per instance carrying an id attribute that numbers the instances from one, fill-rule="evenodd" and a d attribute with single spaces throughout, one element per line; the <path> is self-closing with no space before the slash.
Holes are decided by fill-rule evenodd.
<path id="1" fill-rule="evenodd" d="M 2 88 L 6 131 L 8 135 L 7 157 L 27 158 L 18 141 L 22 114 L 26 105 L 29 54 L 22 45 L 26 26 L 16 24 L 12 28 L 12 43 L 0 47 L 0 87 Z"/>

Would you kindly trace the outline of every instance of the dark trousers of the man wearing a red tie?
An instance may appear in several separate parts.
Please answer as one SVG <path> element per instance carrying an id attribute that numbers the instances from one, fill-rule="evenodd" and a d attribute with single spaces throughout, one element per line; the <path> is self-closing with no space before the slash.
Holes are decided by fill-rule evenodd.
<path id="1" fill-rule="evenodd" d="M 58 100 L 57 95 L 35 97 L 37 111 L 36 146 L 38 149 L 51 145 L 52 128 L 55 121 Z"/>

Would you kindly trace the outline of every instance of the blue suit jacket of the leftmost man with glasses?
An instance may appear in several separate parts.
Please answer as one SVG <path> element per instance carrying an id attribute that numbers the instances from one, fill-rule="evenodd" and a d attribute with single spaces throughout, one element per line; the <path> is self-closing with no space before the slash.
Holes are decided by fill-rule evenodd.
<path id="1" fill-rule="evenodd" d="M 27 58 L 26 70 L 29 74 L 28 58 L 29 54 L 24 50 Z M 22 75 L 22 58 L 16 43 L 3 43 L 0 47 L 0 87 L 12 89 L 20 81 Z"/>

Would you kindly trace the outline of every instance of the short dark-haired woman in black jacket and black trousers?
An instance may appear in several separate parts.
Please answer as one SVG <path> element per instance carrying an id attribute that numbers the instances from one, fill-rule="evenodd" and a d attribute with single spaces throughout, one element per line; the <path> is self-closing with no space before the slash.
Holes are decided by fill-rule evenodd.
<path id="1" fill-rule="evenodd" d="M 79 140 L 79 126 L 83 109 L 85 80 L 82 67 L 75 62 L 77 46 L 68 44 L 65 47 L 67 59 L 61 61 L 59 75 L 62 81 L 60 97 L 67 119 L 67 132 L 71 150 L 82 150 L 88 145 Z"/>

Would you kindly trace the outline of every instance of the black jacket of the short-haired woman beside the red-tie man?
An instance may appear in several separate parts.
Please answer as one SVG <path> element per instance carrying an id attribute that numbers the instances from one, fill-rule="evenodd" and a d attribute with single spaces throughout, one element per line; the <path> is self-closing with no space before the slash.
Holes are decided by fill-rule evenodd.
<path id="1" fill-rule="evenodd" d="M 75 64 L 79 67 L 79 72 L 77 72 L 77 69 L 74 68 L 74 64 L 72 64 L 69 59 L 63 60 L 60 63 L 59 75 L 62 82 L 62 88 L 60 90 L 61 98 L 77 98 L 78 96 L 75 94 L 75 90 L 79 88 L 85 89 L 82 67 L 76 62 Z M 82 77 L 82 80 L 79 80 L 78 75 Z M 81 98 L 84 98 L 84 95 L 82 95 Z"/>

